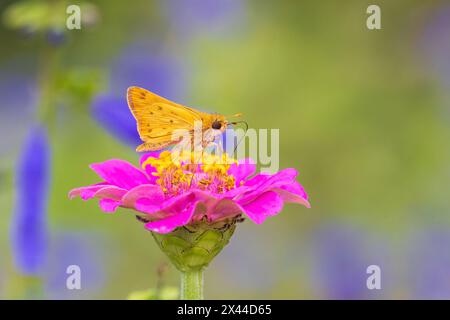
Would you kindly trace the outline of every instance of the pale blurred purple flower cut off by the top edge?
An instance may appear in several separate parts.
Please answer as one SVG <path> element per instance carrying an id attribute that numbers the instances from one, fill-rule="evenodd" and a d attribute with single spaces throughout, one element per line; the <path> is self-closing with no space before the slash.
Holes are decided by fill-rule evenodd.
<path id="1" fill-rule="evenodd" d="M 172 23 L 180 39 L 241 31 L 246 21 L 245 0 L 163 0 L 161 4 L 166 21 Z"/>

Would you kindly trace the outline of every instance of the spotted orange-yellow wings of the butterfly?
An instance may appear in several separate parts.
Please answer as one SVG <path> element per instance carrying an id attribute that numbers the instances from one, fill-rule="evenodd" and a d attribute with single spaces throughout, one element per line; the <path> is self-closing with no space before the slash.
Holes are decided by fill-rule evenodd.
<path id="1" fill-rule="evenodd" d="M 139 87 L 128 88 L 127 100 L 144 142 L 137 151 L 160 150 L 172 145 L 177 142 L 172 140 L 174 130 L 192 132 L 195 121 L 203 121 L 210 116 Z"/>

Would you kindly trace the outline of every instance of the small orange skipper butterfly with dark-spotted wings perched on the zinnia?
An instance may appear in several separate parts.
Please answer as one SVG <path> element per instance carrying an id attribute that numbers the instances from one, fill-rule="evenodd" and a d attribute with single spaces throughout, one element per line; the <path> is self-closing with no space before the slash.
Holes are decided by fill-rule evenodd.
<path id="1" fill-rule="evenodd" d="M 136 148 L 137 152 L 157 151 L 179 143 L 182 138 L 174 139 L 176 130 L 185 130 L 193 139 L 197 124 L 201 124 L 201 144 L 205 147 L 222 134 L 229 124 L 237 123 L 228 122 L 220 114 L 201 112 L 169 101 L 139 87 L 128 88 L 127 101 L 143 141 Z"/>

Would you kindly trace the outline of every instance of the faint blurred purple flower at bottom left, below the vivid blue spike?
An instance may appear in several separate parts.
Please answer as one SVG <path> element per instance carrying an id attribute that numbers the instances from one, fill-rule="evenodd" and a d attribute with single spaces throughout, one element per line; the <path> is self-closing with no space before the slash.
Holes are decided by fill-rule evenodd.
<path id="1" fill-rule="evenodd" d="M 110 242 L 108 242 L 110 243 Z M 98 235 L 66 232 L 58 234 L 49 248 L 45 270 L 46 292 L 49 299 L 89 298 L 105 284 L 102 252 L 106 244 Z M 76 265 L 81 271 L 81 290 L 68 290 L 66 271 Z"/>

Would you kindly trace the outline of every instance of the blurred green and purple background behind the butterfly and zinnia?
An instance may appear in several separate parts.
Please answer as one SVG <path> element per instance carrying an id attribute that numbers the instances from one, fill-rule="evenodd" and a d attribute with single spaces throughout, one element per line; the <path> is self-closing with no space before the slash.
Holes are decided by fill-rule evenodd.
<path id="1" fill-rule="evenodd" d="M 450 298 L 450 5 L 373 1 L 0 2 L 0 298 L 125 299 L 177 286 L 131 212 L 70 189 L 138 162 L 125 90 L 280 129 L 312 208 L 239 225 L 210 299 Z M 82 289 L 66 289 L 66 268 Z M 381 268 L 381 290 L 366 268 Z M 161 271 L 161 270 L 160 270 Z"/>

